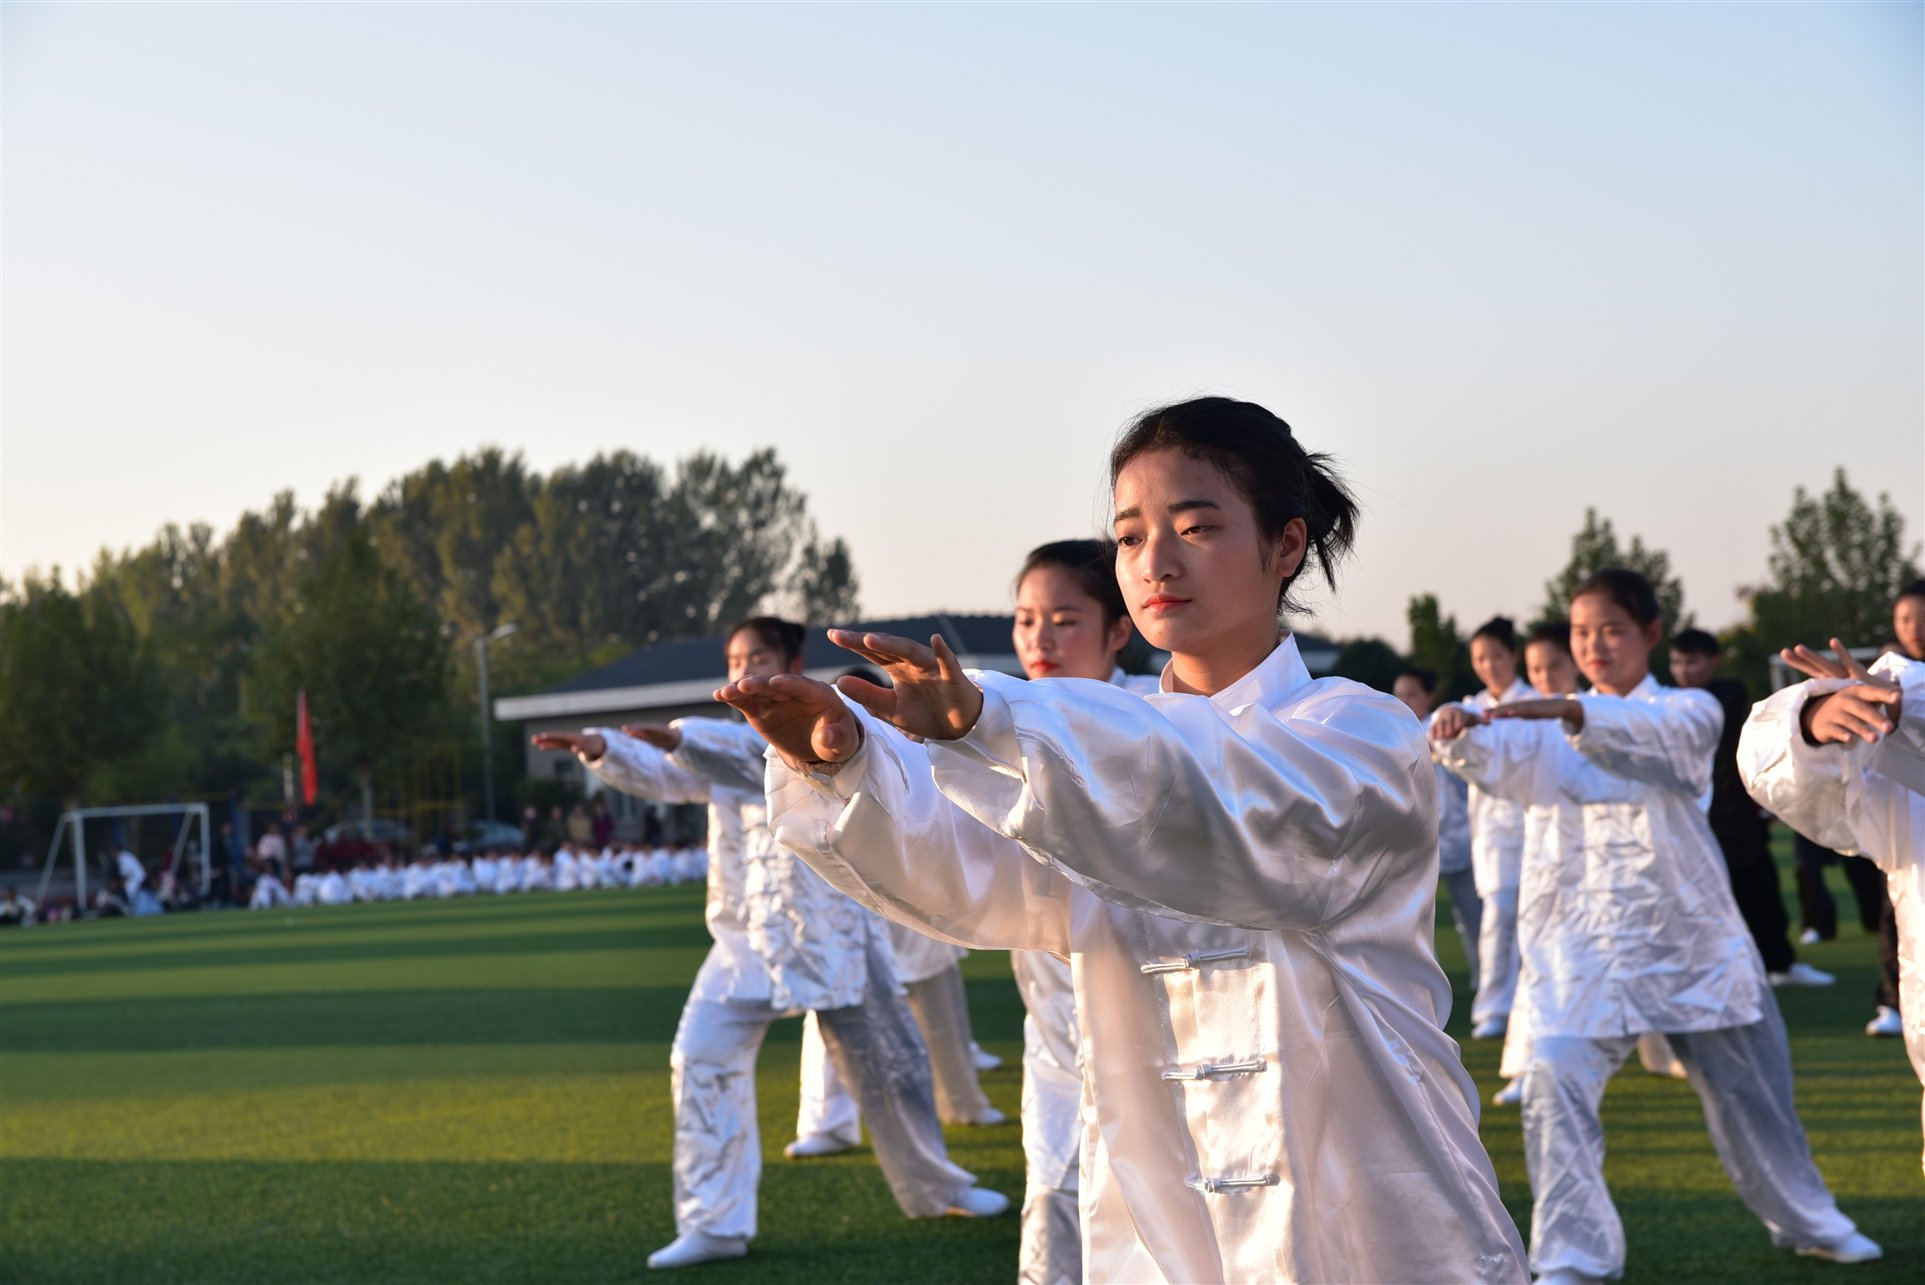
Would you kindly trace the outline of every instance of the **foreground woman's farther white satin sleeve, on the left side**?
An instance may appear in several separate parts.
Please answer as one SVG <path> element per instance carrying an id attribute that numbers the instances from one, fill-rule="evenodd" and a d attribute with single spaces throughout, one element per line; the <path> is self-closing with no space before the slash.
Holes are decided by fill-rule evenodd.
<path id="1" fill-rule="evenodd" d="M 943 798 L 924 746 L 855 712 L 862 748 L 832 777 L 768 750 L 776 841 L 837 891 L 939 941 L 1066 956 L 1068 881 Z"/>

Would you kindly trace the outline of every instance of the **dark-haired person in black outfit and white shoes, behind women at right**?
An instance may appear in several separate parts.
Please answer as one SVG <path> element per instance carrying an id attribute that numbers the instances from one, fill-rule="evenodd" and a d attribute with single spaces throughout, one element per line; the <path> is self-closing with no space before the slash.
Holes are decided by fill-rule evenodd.
<path id="1" fill-rule="evenodd" d="M 1798 962 L 1779 891 L 1779 868 L 1771 860 L 1771 837 L 1744 781 L 1738 777 L 1738 733 L 1752 714 L 1752 696 L 1738 679 L 1717 673 L 1719 644 L 1704 629 L 1684 629 L 1671 641 L 1671 677 L 1679 687 L 1700 687 L 1725 708 L 1725 733 L 1711 760 L 1711 810 L 1706 819 L 1725 850 L 1731 894 L 1744 916 L 1744 927 L 1765 960 L 1765 975 L 1775 987 L 1829 987 L 1836 977 Z"/>

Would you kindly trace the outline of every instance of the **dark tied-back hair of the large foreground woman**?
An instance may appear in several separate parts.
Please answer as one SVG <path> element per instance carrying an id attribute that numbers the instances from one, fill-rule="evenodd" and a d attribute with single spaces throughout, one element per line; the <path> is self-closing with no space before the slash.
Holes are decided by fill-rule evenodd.
<path id="1" fill-rule="evenodd" d="M 1257 514 L 1265 542 L 1282 539 L 1284 527 L 1303 519 L 1309 542 L 1296 573 L 1284 577 L 1276 606 L 1301 610 L 1290 587 L 1311 562 L 1336 589 L 1336 566 L 1357 542 L 1357 500 L 1344 487 L 1330 456 L 1303 450 L 1290 425 L 1257 406 L 1226 396 L 1199 396 L 1159 406 L 1136 417 L 1109 452 L 1109 485 L 1132 460 L 1151 450 L 1180 450 L 1205 460 L 1236 487 Z"/>

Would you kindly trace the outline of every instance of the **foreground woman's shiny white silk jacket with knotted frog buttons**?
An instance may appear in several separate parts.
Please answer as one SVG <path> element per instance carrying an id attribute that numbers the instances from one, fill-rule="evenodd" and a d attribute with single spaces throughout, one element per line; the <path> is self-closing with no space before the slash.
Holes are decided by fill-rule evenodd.
<path id="1" fill-rule="evenodd" d="M 882 914 L 1070 960 L 1088 1279 L 1525 1279 L 1442 1031 L 1409 710 L 1290 639 L 1215 696 L 972 677 L 962 741 L 770 754 L 772 819 Z"/>

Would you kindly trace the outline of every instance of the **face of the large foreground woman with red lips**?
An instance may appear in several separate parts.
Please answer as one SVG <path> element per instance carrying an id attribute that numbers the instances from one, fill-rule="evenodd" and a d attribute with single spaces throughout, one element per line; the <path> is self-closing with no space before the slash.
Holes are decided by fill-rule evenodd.
<path id="1" fill-rule="evenodd" d="M 1303 562 L 1301 521 L 1265 541 L 1215 464 L 1149 450 L 1116 477 L 1116 585 L 1151 646 L 1220 658 L 1276 642 L 1276 598 Z"/>

